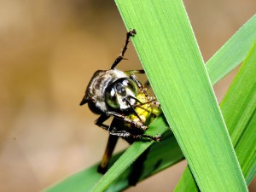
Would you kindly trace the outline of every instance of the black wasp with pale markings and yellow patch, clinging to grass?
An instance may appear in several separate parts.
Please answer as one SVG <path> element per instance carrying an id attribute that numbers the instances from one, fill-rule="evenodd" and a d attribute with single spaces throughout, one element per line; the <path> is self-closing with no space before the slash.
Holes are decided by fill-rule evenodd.
<path id="1" fill-rule="evenodd" d="M 137 140 L 160 141 L 160 136 L 144 133 L 160 113 L 160 103 L 154 96 L 148 95 L 148 88 L 137 79 L 136 74 L 145 73 L 144 70 L 123 72 L 116 69 L 119 62 L 125 60 L 129 39 L 135 34 L 135 29 L 126 33 L 121 54 L 113 61 L 110 69 L 94 73 L 80 102 L 80 105 L 87 103 L 93 113 L 100 115 L 95 124 L 109 133 L 108 145 L 98 172 L 107 171 L 108 160 L 118 137 L 124 138 L 128 143 Z M 104 124 L 110 117 L 113 117 L 112 123 Z"/>

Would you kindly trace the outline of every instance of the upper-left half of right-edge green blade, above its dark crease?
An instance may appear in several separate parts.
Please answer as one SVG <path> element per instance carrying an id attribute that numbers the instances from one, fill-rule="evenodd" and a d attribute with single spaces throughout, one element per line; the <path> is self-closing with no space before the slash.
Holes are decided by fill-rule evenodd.
<path id="1" fill-rule="evenodd" d="M 255 45 L 220 104 L 220 108 L 224 111 L 223 115 L 226 125 L 229 127 L 232 143 L 235 147 L 256 108 Z"/>

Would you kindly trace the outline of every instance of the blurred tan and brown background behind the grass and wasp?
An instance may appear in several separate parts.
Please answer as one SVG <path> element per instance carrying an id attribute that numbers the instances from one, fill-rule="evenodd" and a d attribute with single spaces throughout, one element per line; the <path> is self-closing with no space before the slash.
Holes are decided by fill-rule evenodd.
<path id="1" fill-rule="evenodd" d="M 205 61 L 256 10 L 255 0 L 184 3 Z M 113 1 L 0 0 L 0 191 L 39 191 L 101 160 L 108 134 L 79 102 L 124 38 Z M 132 45 L 126 57 L 119 68 L 141 68 Z M 215 87 L 219 101 L 234 74 Z M 117 150 L 126 146 L 119 141 Z M 185 166 L 126 191 L 172 191 Z"/>

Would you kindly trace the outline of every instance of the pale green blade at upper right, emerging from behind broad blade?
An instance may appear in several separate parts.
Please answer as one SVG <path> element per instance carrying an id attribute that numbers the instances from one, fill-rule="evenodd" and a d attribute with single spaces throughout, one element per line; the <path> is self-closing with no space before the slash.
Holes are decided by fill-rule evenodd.
<path id="1" fill-rule="evenodd" d="M 256 40 L 256 15 L 241 26 L 235 35 L 207 61 L 207 71 L 212 84 L 224 78 L 241 61 L 253 46 Z M 242 40 L 241 40 L 242 39 Z"/>

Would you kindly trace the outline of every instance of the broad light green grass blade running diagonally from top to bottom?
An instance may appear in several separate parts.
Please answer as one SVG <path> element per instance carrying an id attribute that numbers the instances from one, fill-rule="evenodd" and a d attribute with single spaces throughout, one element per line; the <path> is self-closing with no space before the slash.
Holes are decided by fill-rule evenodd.
<path id="1" fill-rule="evenodd" d="M 247 191 L 183 3 L 116 3 L 201 191 Z"/>

